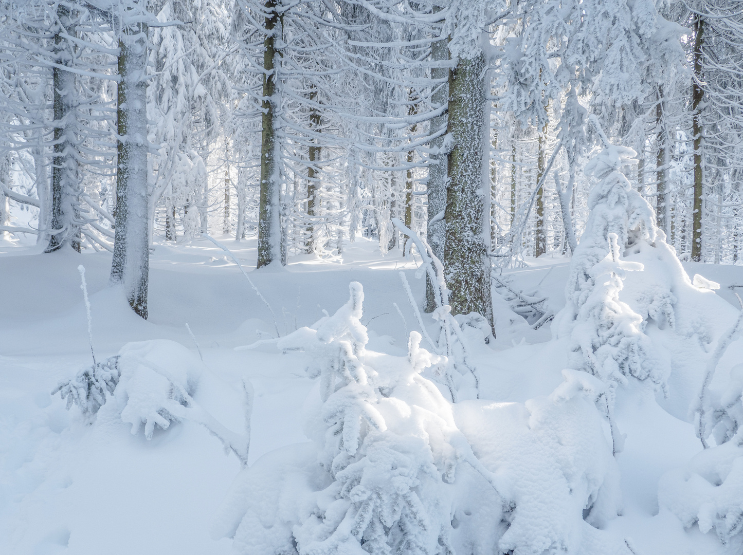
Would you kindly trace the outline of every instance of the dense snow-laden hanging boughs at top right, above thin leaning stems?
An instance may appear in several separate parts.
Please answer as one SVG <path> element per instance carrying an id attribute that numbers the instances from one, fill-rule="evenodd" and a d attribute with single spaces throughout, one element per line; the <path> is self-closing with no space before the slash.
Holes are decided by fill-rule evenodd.
<path id="1" fill-rule="evenodd" d="M 594 140 L 587 126 L 588 113 L 594 113 L 604 129 L 616 130 L 621 136 L 628 111 L 637 113 L 633 107 L 646 106 L 646 99 L 659 84 L 672 79 L 683 61 L 678 42 L 681 27 L 663 19 L 652 0 L 536 0 L 519 2 L 513 10 L 499 55 L 502 71 L 496 72 L 498 108 L 513 114 L 522 126 L 536 128 L 536 174 L 542 179 L 537 179 L 533 198 L 516 218 L 519 224 L 497 251 L 502 262 L 510 262 L 519 250 L 535 203 L 535 236 L 542 241 L 545 233 L 545 216 L 540 213 L 545 202 L 542 188 L 552 176 L 551 170 L 545 175 L 542 161 L 547 157 L 545 126 L 554 122 L 557 140 L 552 155 L 565 149 L 565 170 L 574 176 Z M 568 189 L 574 181 L 568 177 Z M 566 217 L 570 195 L 561 184 L 556 185 L 564 233 L 571 236 L 574 222 Z M 543 250 L 535 244 L 535 253 Z"/>

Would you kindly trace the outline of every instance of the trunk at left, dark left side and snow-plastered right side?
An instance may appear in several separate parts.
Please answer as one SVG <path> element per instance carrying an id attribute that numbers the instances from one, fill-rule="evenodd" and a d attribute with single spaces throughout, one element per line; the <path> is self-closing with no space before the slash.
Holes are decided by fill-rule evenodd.
<path id="1" fill-rule="evenodd" d="M 147 25 L 124 25 L 119 37 L 116 230 L 111 284 L 123 285 L 134 312 L 147 318 L 149 204 L 147 191 Z"/>

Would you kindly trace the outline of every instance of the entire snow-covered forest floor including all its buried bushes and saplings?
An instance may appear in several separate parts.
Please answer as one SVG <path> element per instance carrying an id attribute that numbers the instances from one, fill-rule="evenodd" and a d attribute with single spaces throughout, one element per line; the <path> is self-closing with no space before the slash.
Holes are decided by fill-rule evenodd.
<path id="1" fill-rule="evenodd" d="M 7 285 L 38 295 L 0 313 L 0 552 L 739 555 L 728 285 L 743 273 L 684 269 L 630 224 L 621 184 L 606 190 L 594 210 L 609 213 L 614 190 L 614 227 L 597 225 L 585 273 L 568 259 L 504 272 L 562 311 L 554 339 L 507 306 L 490 343 L 473 315 L 442 334 L 400 281 L 421 302 L 420 259 L 380 258 L 372 241 L 343 265 L 250 273 L 274 323 L 236 264 L 195 240 L 156 247 L 148 322 L 106 289 L 110 257 L 83 255 L 91 366 L 80 256 L 2 254 Z M 234 253 L 253 264 L 254 244 Z M 562 294 L 580 275 L 585 310 Z M 363 283 L 350 301 L 348 282 Z M 60 381 L 64 400 L 49 395 Z"/>

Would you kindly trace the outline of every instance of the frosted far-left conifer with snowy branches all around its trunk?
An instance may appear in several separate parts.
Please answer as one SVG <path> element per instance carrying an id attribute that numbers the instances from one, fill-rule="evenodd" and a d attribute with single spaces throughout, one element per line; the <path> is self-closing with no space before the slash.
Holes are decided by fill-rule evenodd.
<path id="1" fill-rule="evenodd" d="M 2 7 L 4 153 L 14 160 L 13 174 L 23 176 L 18 184 L 33 183 L 25 191 L 6 184 L 4 195 L 38 209 L 35 231 L 48 251 L 64 244 L 110 250 L 110 22 L 77 1 Z"/>

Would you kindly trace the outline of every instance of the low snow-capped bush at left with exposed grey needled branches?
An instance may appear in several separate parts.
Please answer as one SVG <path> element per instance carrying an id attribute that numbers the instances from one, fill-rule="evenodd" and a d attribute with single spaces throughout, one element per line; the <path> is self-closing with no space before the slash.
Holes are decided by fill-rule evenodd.
<path id="1" fill-rule="evenodd" d="M 155 425 L 167 429 L 184 417 L 186 399 L 194 392 L 203 364 L 180 343 L 152 340 L 127 343 L 114 357 L 59 383 L 53 393 L 67 397 L 85 415 L 95 414 L 108 397 L 120 406 L 122 421 L 132 434 L 144 424 L 146 438 Z"/>

